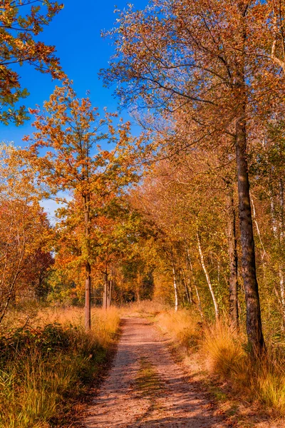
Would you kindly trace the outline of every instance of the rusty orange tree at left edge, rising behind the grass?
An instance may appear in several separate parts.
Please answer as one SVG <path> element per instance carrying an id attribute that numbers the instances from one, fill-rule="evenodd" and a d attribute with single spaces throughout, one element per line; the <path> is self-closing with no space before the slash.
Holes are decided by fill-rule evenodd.
<path id="1" fill-rule="evenodd" d="M 36 292 L 52 263 L 45 248 L 50 227 L 39 205 L 41 192 L 20 153 L 12 145 L 1 144 L 0 323 L 17 297 L 23 297 L 29 287 Z"/>

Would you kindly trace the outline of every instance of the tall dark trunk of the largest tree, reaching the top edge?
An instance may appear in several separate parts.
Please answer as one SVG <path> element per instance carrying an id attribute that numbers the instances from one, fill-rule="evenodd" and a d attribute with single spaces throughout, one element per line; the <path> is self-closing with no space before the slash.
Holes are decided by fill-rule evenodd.
<path id="1" fill-rule="evenodd" d="M 235 64 L 234 96 L 236 105 L 235 148 L 237 162 L 237 188 L 239 193 L 239 227 L 242 243 L 242 277 L 244 280 L 245 303 L 247 307 L 247 338 L 252 357 L 259 357 L 265 349 L 261 326 L 261 310 L 257 271 L 255 264 L 252 210 L 249 195 L 247 165 L 247 86 L 245 59 L 247 58 L 247 6 L 238 4 L 240 16 L 239 61 Z"/>

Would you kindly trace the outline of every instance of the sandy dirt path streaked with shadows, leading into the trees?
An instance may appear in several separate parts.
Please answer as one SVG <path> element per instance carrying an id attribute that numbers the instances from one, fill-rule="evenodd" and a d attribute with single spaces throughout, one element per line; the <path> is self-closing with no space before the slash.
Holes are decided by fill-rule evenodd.
<path id="1" fill-rule="evenodd" d="M 124 320 L 113 368 L 83 426 L 227 427 L 199 385 L 185 378 L 164 342 L 147 320 Z"/>

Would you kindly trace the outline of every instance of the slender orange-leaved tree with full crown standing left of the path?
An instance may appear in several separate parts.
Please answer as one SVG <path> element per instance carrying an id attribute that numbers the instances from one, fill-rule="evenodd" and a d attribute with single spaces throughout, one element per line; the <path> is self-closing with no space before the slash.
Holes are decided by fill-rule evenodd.
<path id="1" fill-rule="evenodd" d="M 93 247 L 97 245 L 91 240 L 90 230 L 97 215 L 93 199 L 103 198 L 135 178 L 129 123 L 120 122 L 115 131 L 112 125 L 115 115 L 105 113 L 105 118 L 100 118 L 89 98 L 76 98 L 69 81 L 55 88 L 50 100 L 44 103 L 43 113 L 31 112 L 36 116 L 33 123 L 36 132 L 32 138 L 26 137 L 32 143 L 27 152 L 28 161 L 36 168 L 38 180 L 45 183 L 50 195 L 70 191 L 74 197 L 73 221 L 80 226 L 80 257 L 86 270 L 85 313 L 86 330 L 89 330 L 91 263 Z M 99 146 L 101 141 L 115 148 L 103 150 Z M 41 149 L 46 150 L 42 156 Z"/>

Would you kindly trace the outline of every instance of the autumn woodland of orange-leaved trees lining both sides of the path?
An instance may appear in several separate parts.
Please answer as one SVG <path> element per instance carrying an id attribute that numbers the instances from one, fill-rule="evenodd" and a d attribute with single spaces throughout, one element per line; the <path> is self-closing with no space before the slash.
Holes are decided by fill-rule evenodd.
<path id="1" fill-rule="evenodd" d="M 14 414 L 5 413 L 15 373 L 33 371 L 33 346 L 43 377 L 47 360 L 54 367 L 60 353 L 66 367 L 74 349 L 86 373 L 90 347 L 100 365 L 118 329 L 112 307 L 144 300 L 167 307 L 169 324 L 184 314 L 175 340 L 188 352 L 203 326 L 208 346 L 217 343 L 214 374 L 284 417 L 284 0 L 150 0 L 117 10 L 100 79 L 139 135 L 120 114 L 102 116 L 78 98 L 56 47 L 38 41 L 62 8 L 0 0 L 0 121 L 31 117 L 34 129 L 25 148 L 0 143 L 0 427 L 59 423 L 51 405 L 41 424 L 44 400 L 23 417 L 16 392 Z M 16 63 L 56 79 L 43 106 L 25 106 Z M 43 199 L 58 202 L 54 223 Z M 61 309 L 81 327 L 38 321 L 38 311 L 47 320 Z M 199 333 L 187 335 L 188 318 Z M 65 401 L 56 391 L 55 402 Z"/>

